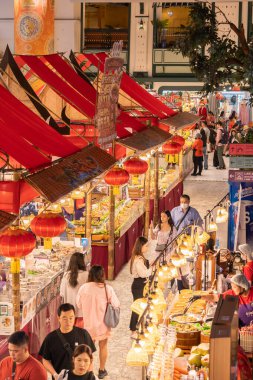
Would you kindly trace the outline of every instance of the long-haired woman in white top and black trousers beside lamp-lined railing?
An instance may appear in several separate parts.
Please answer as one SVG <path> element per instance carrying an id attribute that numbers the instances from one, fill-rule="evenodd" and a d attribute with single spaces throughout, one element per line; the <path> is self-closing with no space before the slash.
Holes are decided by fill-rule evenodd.
<path id="1" fill-rule="evenodd" d="M 148 250 L 148 239 L 143 236 L 139 236 L 136 239 L 132 256 L 130 260 L 130 273 L 133 277 L 132 283 L 132 295 L 134 301 L 143 297 L 143 290 L 147 277 L 152 273 L 152 268 L 149 268 L 149 262 L 145 258 L 145 254 Z M 136 324 L 138 322 L 138 314 L 132 313 L 130 320 L 130 330 L 134 337 L 136 332 Z"/>

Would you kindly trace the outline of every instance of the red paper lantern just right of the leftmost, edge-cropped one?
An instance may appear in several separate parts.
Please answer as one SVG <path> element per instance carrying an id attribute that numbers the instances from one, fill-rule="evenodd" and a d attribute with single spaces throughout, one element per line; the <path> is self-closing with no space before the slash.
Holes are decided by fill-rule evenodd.
<path id="1" fill-rule="evenodd" d="M 51 238 L 62 234 L 66 226 L 67 222 L 62 215 L 42 212 L 33 218 L 30 228 L 37 236 Z"/>

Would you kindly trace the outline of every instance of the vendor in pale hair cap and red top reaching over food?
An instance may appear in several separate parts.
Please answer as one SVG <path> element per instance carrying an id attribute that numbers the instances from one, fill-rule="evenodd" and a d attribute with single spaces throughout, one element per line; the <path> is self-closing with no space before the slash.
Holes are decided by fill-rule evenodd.
<path id="1" fill-rule="evenodd" d="M 232 289 L 222 293 L 223 297 L 237 296 L 239 301 L 238 317 L 239 327 L 248 326 L 253 323 L 253 287 L 243 274 L 236 274 L 231 278 Z M 218 302 L 219 294 L 208 294 L 201 298 L 206 301 Z"/>

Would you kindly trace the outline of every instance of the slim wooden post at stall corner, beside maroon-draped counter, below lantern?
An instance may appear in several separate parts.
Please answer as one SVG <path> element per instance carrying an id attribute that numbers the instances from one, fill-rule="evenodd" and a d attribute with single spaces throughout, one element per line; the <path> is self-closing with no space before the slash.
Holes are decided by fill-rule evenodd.
<path id="1" fill-rule="evenodd" d="M 108 280 L 114 279 L 114 255 L 115 255 L 115 195 L 113 186 L 109 187 L 109 240 L 108 240 Z"/>

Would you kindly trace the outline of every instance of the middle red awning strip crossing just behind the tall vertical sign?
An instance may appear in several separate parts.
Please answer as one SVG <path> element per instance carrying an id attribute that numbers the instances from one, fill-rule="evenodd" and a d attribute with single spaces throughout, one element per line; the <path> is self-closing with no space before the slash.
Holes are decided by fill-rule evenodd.
<path id="1" fill-rule="evenodd" d="M 93 112 L 95 113 L 97 91 L 94 87 L 90 86 L 85 80 L 83 80 L 76 72 L 69 66 L 64 59 L 58 54 L 46 55 L 43 57 L 46 59 L 53 68 L 76 90 L 82 97 L 88 102 L 93 104 Z M 117 118 L 117 135 L 120 138 L 129 136 L 129 131 L 125 128 L 129 127 L 135 131 L 141 131 L 145 129 L 145 125 L 138 119 L 129 116 L 126 112 L 121 111 Z"/>

